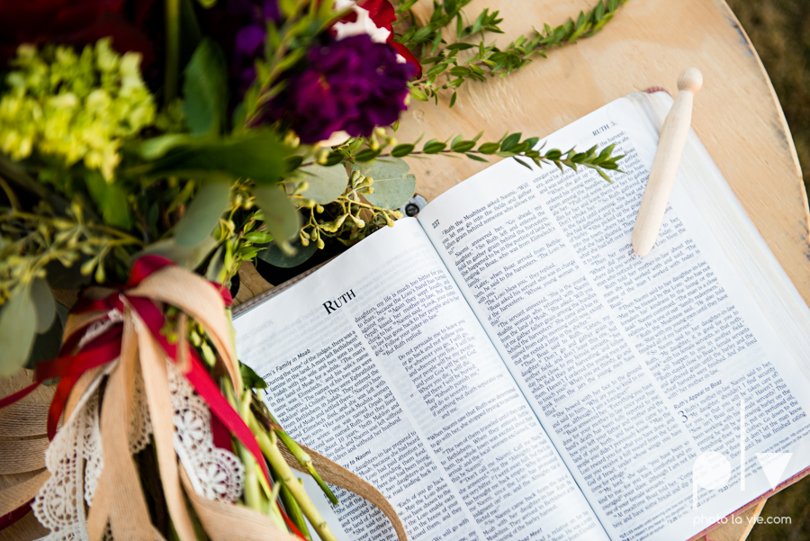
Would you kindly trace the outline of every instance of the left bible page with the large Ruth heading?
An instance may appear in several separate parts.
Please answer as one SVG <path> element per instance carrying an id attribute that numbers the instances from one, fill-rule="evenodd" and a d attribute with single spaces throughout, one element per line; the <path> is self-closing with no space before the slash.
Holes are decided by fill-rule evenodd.
<path id="1" fill-rule="evenodd" d="M 411 539 L 608 539 L 418 221 L 234 327 L 282 426 L 372 482 Z M 307 488 L 338 539 L 395 539 L 359 496 L 338 490 L 332 508 Z"/>

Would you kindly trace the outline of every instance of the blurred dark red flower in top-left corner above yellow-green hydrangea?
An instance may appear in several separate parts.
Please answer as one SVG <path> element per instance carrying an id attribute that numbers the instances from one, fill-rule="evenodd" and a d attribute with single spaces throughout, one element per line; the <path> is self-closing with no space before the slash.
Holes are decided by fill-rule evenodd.
<path id="1" fill-rule="evenodd" d="M 154 0 L 135 6 L 135 24 L 122 12 L 125 0 L 0 0 L 0 68 L 21 43 L 80 47 L 112 36 L 115 50 L 134 50 L 143 64 L 154 59 L 152 44 L 139 31 Z"/>

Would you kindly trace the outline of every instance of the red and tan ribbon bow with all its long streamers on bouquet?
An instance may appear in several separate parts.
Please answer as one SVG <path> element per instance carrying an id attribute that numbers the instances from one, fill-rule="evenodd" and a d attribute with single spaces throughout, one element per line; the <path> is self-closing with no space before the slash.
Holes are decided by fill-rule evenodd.
<path id="1" fill-rule="evenodd" d="M 219 284 L 175 266 L 164 257 L 140 257 L 132 266 L 127 284 L 115 288 L 96 287 L 85 292 L 67 318 L 58 358 L 38 363 L 31 385 L 0 399 L 2 409 L 30 394 L 40 383 L 50 378 L 60 378 L 48 413 L 47 433 L 49 439 L 53 439 L 62 414 L 67 422 L 85 393 L 93 388 L 91 385 L 104 374 L 109 374 L 100 429 L 103 453 L 110 460 L 107 462 L 105 458 L 102 477 L 98 480 L 93 505 L 87 516 L 87 531 L 91 539 L 100 539 L 108 522 L 113 536 L 116 536 L 116 531 L 121 537 L 153 536 L 144 501 L 130 497 L 140 491 L 135 464 L 127 446 L 133 378 L 138 365 L 144 378 L 166 507 L 181 541 L 192 541 L 196 536 L 180 482 L 211 539 L 227 539 L 237 529 L 246 539 L 293 541 L 296 537 L 303 538 L 284 511 L 282 517 L 294 536 L 276 529 L 266 522 L 266 517 L 257 515 L 251 509 L 202 498 L 189 484 L 184 469 L 177 466 L 172 441 L 172 407 L 168 396 L 166 359 L 177 365 L 211 410 L 214 445 L 227 448 L 230 446 L 230 434 L 237 437 L 261 467 L 268 486 L 272 486 L 256 438 L 222 395 L 196 351 L 184 339 L 185 318 L 192 317 L 211 338 L 219 353 L 215 369 L 229 375 L 238 398 L 242 382 L 225 311 L 230 303 L 229 292 Z M 167 321 L 161 304 L 180 310 L 177 340 L 165 336 Z M 118 364 L 111 365 L 112 362 Z M 392 521 L 398 538 L 407 540 L 396 510 L 374 486 L 326 457 L 303 448 L 311 455 L 313 464 L 326 482 L 337 484 L 371 501 Z M 293 455 L 285 449 L 281 451 L 290 466 L 305 471 Z M 4 503 L 0 509 L 11 511 L 0 516 L 0 529 L 24 514 L 27 505 L 17 506 L 30 501 L 31 489 L 33 493 L 39 490 L 48 476 L 47 472 L 40 473 L 31 480 L 31 486 L 27 486 L 28 482 L 15 485 L 13 489 L 19 489 L 14 490 L 16 500 L 4 500 L 0 491 L 0 503 Z M 119 497 L 108 497 L 109 491 L 117 491 Z M 18 502 L 12 505 L 12 500 Z"/>

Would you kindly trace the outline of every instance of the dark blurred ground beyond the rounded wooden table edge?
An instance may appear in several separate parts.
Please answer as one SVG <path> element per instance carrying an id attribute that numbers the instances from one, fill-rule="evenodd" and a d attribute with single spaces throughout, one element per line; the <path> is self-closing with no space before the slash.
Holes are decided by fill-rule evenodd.
<path id="1" fill-rule="evenodd" d="M 760 54 L 785 111 L 799 162 L 810 186 L 810 0 L 726 0 Z M 762 518 L 790 517 L 791 524 L 760 524 L 749 541 L 810 540 L 810 477 L 779 492 Z"/>

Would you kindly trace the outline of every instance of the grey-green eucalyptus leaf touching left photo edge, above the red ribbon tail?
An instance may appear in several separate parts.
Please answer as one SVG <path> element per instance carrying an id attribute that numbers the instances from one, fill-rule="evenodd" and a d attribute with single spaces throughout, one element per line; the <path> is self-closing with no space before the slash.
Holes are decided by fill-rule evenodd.
<path id="1" fill-rule="evenodd" d="M 35 326 L 30 286 L 18 285 L 0 311 L 0 376 L 13 375 L 25 365 L 31 355 Z"/>

